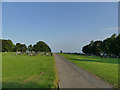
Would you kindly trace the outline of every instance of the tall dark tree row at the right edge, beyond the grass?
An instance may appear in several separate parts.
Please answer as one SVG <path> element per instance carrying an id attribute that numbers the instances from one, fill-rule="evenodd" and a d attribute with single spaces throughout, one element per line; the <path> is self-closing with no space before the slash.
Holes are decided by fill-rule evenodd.
<path id="1" fill-rule="evenodd" d="M 82 51 L 88 55 L 120 57 L 120 34 L 113 34 L 103 41 L 91 41 Z"/>

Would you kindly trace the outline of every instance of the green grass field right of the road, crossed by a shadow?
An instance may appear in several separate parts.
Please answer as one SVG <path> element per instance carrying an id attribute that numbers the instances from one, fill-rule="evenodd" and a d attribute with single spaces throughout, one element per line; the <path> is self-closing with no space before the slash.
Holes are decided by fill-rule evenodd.
<path id="1" fill-rule="evenodd" d="M 118 59 L 63 53 L 59 55 L 118 88 Z"/>

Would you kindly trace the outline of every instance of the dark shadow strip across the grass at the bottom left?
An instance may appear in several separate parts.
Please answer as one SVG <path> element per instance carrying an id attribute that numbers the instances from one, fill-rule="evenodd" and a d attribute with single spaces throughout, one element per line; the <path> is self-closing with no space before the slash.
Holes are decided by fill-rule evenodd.
<path id="1" fill-rule="evenodd" d="M 28 83 L 13 83 L 13 82 L 3 82 L 2 83 L 3 90 L 9 90 L 9 88 L 16 88 L 15 90 L 19 90 L 19 88 L 51 88 L 50 84 L 40 85 L 35 82 Z"/>

